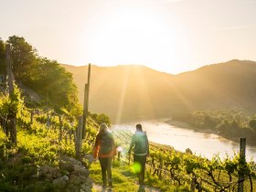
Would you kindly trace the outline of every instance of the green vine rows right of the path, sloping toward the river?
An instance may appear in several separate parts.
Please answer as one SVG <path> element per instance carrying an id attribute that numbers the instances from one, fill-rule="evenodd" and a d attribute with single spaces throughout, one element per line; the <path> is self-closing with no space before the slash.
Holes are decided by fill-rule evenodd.
<path id="1" fill-rule="evenodd" d="M 118 130 L 114 134 L 125 156 L 132 133 Z M 157 187 L 164 191 L 170 191 L 172 186 L 183 186 L 188 191 L 238 191 L 240 182 L 244 184 L 244 191 L 252 192 L 256 187 L 255 163 L 241 161 L 239 155 L 227 155 L 224 159 L 215 155 L 208 160 L 193 155 L 189 149 L 181 153 L 170 146 L 150 144 L 146 166 L 147 182 L 157 186 L 159 180 L 162 181 Z M 239 174 L 244 180 L 239 181 Z"/>

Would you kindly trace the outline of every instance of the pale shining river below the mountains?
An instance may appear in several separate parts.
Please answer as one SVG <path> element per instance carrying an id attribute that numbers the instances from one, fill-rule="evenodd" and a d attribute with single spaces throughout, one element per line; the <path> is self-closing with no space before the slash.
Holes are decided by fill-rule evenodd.
<path id="1" fill-rule="evenodd" d="M 135 131 L 135 124 L 118 124 L 113 129 Z M 182 128 L 176 125 L 165 123 L 164 121 L 146 121 L 141 122 L 144 131 L 148 135 L 148 140 L 157 144 L 166 144 L 173 146 L 176 150 L 185 152 L 187 148 L 191 149 L 196 155 L 205 156 L 209 159 L 213 155 L 219 154 L 221 158 L 226 154 L 233 156 L 240 150 L 240 144 L 225 139 L 214 133 L 199 133 L 190 129 Z M 256 147 L 246 146 L 246 159 L 256 162 Z"/>

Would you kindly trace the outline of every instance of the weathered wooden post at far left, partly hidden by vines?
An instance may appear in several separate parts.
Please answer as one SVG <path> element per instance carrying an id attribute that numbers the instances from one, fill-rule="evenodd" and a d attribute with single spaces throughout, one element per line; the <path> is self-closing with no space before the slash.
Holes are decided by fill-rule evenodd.
<path id="1" fill-rule="evenodd" d="M 7 66 L 7 75 L 8 75 L 8 88 L 9 88 L 9 97 L 10 100 L 13 100 L 13 96 L 15 94 L 15 86 L 14 86 L 14 76 L 12 72 L 12 59 L 11 59 L 11 48 L 9 44 L 5 45 L 5 59 Z M 11 142 L 16 144 L 16 112 L 12 112 L 9 114 L 10 121 L 7 126 L 7 134 L 10 133 Z"/>

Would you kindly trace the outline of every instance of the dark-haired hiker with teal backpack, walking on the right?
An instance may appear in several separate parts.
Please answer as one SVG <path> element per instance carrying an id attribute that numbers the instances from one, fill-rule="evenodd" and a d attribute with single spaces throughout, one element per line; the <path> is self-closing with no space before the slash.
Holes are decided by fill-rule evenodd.
<path id="1" fill-rule="evenodd" d="M 134 149 L 133 149 L 134 146 Z M 140 187 L 144 187 L 144 171 L 146 157 L 149 155 L 149 144 L 146 133 L 141 124 L 136 124 L 136 132 L 133 134 L 128 155 L 130 158 L 133 149 L 133 168 L 139 178 Z"/>

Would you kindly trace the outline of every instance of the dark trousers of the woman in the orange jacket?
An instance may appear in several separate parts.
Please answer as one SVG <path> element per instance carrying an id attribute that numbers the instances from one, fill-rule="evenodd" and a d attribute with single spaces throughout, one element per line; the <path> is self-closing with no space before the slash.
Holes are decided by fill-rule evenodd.
<path id="1" fill-rule="evenodd" d="M 112 186 L 112 157 L 99 157 L 101 163 L 101 176 L 103 186 L 107 185 L 107 174 L 109 186 Z"/>

